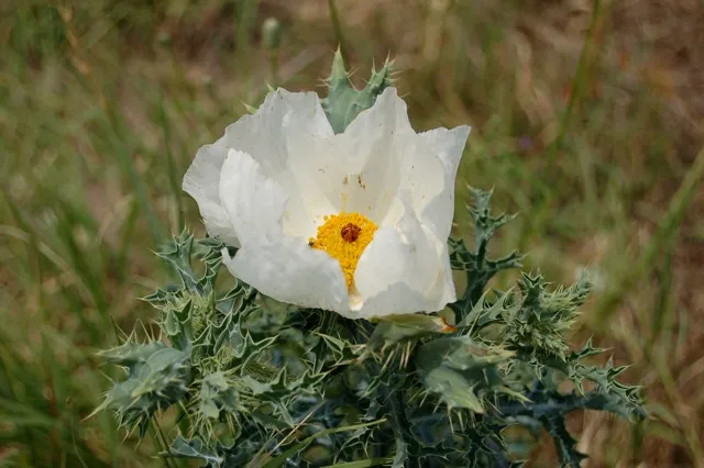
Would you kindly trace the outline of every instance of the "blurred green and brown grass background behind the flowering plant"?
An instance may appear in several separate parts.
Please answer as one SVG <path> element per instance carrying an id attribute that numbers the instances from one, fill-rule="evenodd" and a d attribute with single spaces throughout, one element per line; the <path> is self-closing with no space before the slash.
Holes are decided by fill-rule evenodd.
<path id="1" fill-rule="evenodd" d="M 196 149 L 267 83 L 324 93 L 338 44 L 358 86 L 395 58 L 416 130 L 473 126 L 455 235 L 472 236 L 466 183 L 494 187 L 520 213 L 497 254 L 556 283 L 592 275 L 573 343 L 632 364 L 652 419 L 573 417 L 585 466 L 704 466 L 704 3 L 336 4 L 0 5 L 0 466 L 161 466 L 158 431 L 138 446 L 87 419 L 119 376 L 95 352 L 155 316 L 138 299 L 168 279 L 152 250 L 204 234 L 180 190 Z M 548 438 L 529 466 L 556 466 Z"/>

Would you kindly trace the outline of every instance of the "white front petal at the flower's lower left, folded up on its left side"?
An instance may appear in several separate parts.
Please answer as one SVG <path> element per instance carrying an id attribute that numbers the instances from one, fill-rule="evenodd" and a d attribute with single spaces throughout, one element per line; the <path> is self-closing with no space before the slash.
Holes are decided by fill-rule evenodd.
<path id="1" fill-rule="evenodd" d="M 337 260 L 282 229 L 287 194 L 250 155 L 230 151 L 222 166 L 220 199 L 238 226 L 242 247 L 224 264 L 244 282 L 283 302 L 346 310 L 344 275 Z"/>

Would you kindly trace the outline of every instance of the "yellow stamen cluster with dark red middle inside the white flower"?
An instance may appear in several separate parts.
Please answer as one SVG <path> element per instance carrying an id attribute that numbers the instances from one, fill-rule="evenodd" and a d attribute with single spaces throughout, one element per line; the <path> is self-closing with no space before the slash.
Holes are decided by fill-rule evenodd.
<path id="1" fill-rule="evenodd" d="M 318 235 L 310 237 L 308 244 L 312 248 L 327 252 L 340 263 L 348 289 L 352 289 L 356 263 L 374 238 L 377 226 L 358 212 L 323 216 L 323 221 L 324 223 L 318 227 Z"/>

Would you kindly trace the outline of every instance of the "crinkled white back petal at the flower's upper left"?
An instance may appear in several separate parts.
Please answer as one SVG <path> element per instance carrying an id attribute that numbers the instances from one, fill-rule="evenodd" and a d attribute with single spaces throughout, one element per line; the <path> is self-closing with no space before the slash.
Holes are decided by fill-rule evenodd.
<path id="1" fill-rule="evenodd" d="M 332 134 L 315 92 L 279 89 L 270 93 L 254 114 L 231 124 L 220 140 L 198 151 L 184 177 L 184 190 L 197 201 L 208 232 L 239 246 L 237 226 L 228 224 L 218 197 L 218 181 L 228 149 L 242 151 L 260 163 L 262 171 L 276 180 L 289 197 L 284 213 L 287 230 L 297 235 L 310 235 L 316 230 L 310 218 L 312 212 L 332 210 L 324 200 L 312 200 L 320 191 L 316 192 L 309 174 L 317 170 L 322 155 L 310 151 L 315 146 L 311 142 L 316 138 L 324 141 Z M 289 151 L 289 141 L 301 137 L 309 142 L 308 151 Z M 297 147 L 302 148 L 301 145 Z"/>

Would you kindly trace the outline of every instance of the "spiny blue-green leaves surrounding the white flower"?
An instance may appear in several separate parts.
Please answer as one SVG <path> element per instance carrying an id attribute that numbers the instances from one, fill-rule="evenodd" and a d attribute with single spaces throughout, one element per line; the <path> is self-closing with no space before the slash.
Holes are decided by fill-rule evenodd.
<path id="1" fill-rule="evenodd" d="M 324 108 L 337 132 L 373 104 L 389 70 L 356 91 L 336 56 Z M 128 376 L 100 410 L 144 436 L 172 408 L 180 432 L 162 455 L 213 468 L 517 467 L 504 437 L 514 425 L 547 430 L 562 466 L 579 467 L 585 455 L 565 416 L 645 417 L 638 389 L 616 380 L 623 367 L 588 364 L 603 352 L 591 342 L 570 350 L 566 334 L 590 291 L 584 279 L 551 290 L 540 275 L 524 274 L 505 291 L 487 290 L 522 256 L 488 257 L 494 232 L 513 216 L 492 214 L 491 192 L 473 194 L 473 248 L 449 242 L 452 267 L 469 285 L 450 304 L 453 324 L 426 314 L 351 321 L 277 303 L 229 276 L 220 293 L 222 255 L 234 249 L 187 232 L 174 237 L 157 255 L 178 282 L 145 298 L 160 311 L 162 339 L 131 335 L 101 354 Z M 564 381 L 572 391 L 559 390 Z"/>

